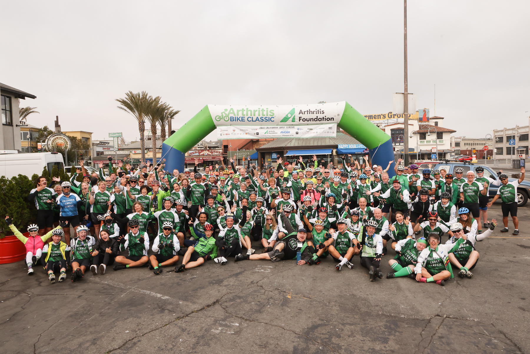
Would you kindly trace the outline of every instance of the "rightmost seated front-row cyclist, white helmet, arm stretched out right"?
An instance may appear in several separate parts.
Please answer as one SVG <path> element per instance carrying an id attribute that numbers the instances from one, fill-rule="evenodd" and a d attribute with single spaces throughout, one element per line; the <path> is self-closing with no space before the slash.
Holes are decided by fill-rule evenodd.
<path id="1" fill-rule="evenodd" d="M 461 238 L 464 235 L 467 238 L 464 243 L 461 243 L 460 246 L 454 250 L 453 253 L 449 253 L 449 261 L 451 261 L 451 264 L 460 269 L 460 272 L 458 272 L 458 277 L 467 277 L 470 279 L 473 277 L 473 273 L 471 273 L 470 270 L 475 267 L 480 256 L 479 252 L 475 249 L 475 243 L 476 241 L 482 241 L 491 235 L 491 232 L 493 232 L 497 226 L 497 221 L 492 219 L 491 222 L 491 226 L 488 228 L 488 230 L 480 235 L 466 234 L 465 228 L 460 222 L 455 222 L 453 225 L 451 225 L 451 231 L 453 231 L 454 236 L 447 240 L 447 244 L 455 243 L 458 238 Z"/>

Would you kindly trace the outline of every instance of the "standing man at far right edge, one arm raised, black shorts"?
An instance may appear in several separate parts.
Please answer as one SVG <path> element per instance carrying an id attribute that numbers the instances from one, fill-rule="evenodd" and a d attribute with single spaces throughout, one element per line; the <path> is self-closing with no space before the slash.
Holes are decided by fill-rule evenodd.
<path id="1" fill-rule="evenodd" d="M 514 180 L 513 182 L 509 182 L 508 176 L 505 174 L 501 174 L 499 179 L 500 183 L 502 183 L 502 186 L 497 189 L 497 194 L 493 197 L 493 200 L 488 203 L 488 206 L 491 206 L 500 197 L 502 201 L 502 223 L 504 223 L 504 229 L 500 230 L 500 232 L 508 232 L 508 215 L 511 215 L 511 220 L 514 222 L 515 227 L 513 235 L 518 235 L 519 220 L 517 219 L 517 187 L 525 179 L 525 168 L 521 168 L 521 176 L 519 179 Z"/>

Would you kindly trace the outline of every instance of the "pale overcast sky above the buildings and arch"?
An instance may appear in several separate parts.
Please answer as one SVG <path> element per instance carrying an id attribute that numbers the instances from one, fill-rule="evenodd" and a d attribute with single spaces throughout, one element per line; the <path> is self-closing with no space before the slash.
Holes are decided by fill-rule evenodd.
<path id="1" fill-rule="evenodd" d="M 138 138 L 116 108 L 145 90 L 180 109 L 348 101 L 392 110 L 403 92 L 402 1 L 12 1 L 0 82 L 37 96 L 28 123 Z M 456 136 L 527 125 L 530 2 L 408 2 L 409 92 Z M 211 134 L 210 134 L 211 136 Z"/>

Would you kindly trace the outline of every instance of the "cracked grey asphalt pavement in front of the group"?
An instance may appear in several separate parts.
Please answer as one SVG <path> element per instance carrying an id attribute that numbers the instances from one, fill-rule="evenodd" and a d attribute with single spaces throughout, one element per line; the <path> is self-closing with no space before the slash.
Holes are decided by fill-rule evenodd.
<path id="1" fill-rule="evenodd" d="M 476 244 L 473 278 L 445 287 L 369 282 L 358 257 L 342 271 L 331 257 L 312 266 L 230 258 L 184 273 L 109 269 L 55 284 L 42 269 L 29 277 L 22 261 L 2 264 L 0 352 L 530 352 L 529 213 L 519 209 L 517 237 L 501 234 L 494 204 L 499 226 Z M 383 257 L 385 274 L 393 256 Z"/>

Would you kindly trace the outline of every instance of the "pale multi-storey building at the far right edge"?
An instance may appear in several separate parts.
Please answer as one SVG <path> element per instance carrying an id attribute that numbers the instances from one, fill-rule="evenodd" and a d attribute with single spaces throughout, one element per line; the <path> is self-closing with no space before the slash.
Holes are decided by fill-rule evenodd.
<path id="1" fill-rule="evenodd" d="M 493 129 L 493 159 L 516 159 L 524 150 L 528 157 L 528 125 Z"/>

